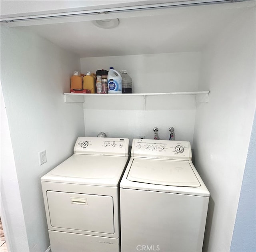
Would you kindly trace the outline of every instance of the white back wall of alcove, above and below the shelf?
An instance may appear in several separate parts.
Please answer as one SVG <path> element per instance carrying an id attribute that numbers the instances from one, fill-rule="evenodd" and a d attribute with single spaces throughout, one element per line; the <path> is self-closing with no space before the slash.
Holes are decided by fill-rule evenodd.
<path id="1" fill-rule="evenodd" d="M 126 69 L 133 93 L 197 91 L 200 58 L 199 52 L 82 58 L 81 71 Z M 109 137 L 132 141 L 139 135 L 154 138 L 154 127 L 160 139 L 169 139 L 168 129 L 174 127 L 177 140 L 192 143 L 195 109 L 194 96 L 148 96 L 146 101 L 144 97 L 86 97 L 85 131 L 87 136 L 104 131 Z"/>

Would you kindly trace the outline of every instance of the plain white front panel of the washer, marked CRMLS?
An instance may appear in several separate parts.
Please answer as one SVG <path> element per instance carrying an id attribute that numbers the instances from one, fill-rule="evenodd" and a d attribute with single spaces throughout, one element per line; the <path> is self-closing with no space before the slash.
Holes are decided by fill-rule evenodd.
<path id="1" fill-rule="evenodd" d="M 121 250 L 202 251 L 208 197 L 120 189 Z"/>

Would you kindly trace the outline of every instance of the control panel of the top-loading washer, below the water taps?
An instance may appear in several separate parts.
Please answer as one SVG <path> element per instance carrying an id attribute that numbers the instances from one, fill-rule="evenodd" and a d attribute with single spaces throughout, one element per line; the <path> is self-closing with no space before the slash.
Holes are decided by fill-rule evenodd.
<path id="1" fill-rule="evenodd" d="M 132 157 L 191 160 L 190 142 L 153 139 L 133 139 Z"/>

